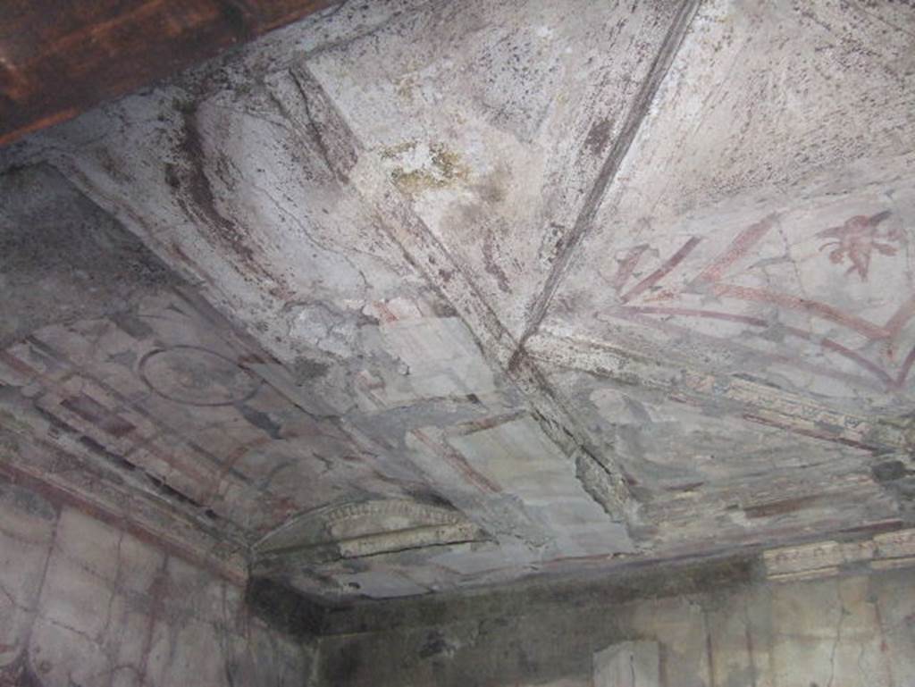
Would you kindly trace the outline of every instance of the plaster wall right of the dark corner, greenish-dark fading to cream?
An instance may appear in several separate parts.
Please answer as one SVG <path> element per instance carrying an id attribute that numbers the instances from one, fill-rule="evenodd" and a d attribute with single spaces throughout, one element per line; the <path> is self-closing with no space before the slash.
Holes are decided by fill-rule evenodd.
<path id="1" fill-rule="evenodd" d="M 444 622 L 430 606 L 410 613 L 411 623 L 425 615 L 425 624 L 388 630 L 369 628 L 364 617 L 342 623 L 337 636 L 321 642 L 321 684 L 915 685 L 911 569 L 747 582 L 621 604 L 576 592 L 526 607 L 512 602 L 508 612 L 492 596 L 474 603 Z M 639 649 L 632 661 L 636 669 L 626 670 L 623 682 L 608 679 L 624 674 L 612 664 L 619 652 L 608 650 L 620 646 Z"/>

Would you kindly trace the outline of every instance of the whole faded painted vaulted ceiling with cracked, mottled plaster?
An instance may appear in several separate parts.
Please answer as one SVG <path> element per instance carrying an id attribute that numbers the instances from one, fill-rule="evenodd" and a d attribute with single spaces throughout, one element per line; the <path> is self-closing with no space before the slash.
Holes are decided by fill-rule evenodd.
<path id="1" fill-rule="evenodd" d="M 911 522 L 915 8 L 344 3 L 0 151 L 0 469 L 407 596 Z"/>

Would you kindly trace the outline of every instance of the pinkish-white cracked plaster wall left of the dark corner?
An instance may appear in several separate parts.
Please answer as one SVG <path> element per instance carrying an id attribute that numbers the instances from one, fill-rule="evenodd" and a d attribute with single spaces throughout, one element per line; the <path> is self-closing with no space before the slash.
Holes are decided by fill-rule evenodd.
<path id="1" fill-rule="evenodd" d="M 0 481 L 0 685 L 286 687 L 310 649 L 241 586 Z"/>

